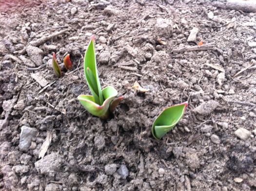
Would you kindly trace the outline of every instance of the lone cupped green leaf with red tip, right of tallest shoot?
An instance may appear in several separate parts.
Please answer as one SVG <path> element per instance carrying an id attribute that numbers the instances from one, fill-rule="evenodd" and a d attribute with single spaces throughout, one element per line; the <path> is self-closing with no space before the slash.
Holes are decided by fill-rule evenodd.
<path id="1" fill-rule="evenodd" d="M 188 102 L 184 102 L 178 105 L 174 105 L 166 108 L 153 123 L 152 134 L 156 139 L 160 139 L 174 128 L 178 121 L 182 118 Z"/>

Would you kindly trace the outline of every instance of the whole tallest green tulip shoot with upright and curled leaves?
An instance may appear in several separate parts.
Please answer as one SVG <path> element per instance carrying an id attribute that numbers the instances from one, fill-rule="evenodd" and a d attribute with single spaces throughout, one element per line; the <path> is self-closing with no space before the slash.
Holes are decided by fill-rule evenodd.
<path id="1" fill-rule="evenodd" d="M 120 96 L 115 99 L 118 92 L 112 86 L 107 86 L 101 90 L 94 46 L 95 38 L 92 36 L 84 55 L 83 64 L 85 79 L 92 96 L 80 95 L 78 99 L 90 114 L 106 119 L 109 117 L 110 112 L 114 111 L 123 97 Z"/>

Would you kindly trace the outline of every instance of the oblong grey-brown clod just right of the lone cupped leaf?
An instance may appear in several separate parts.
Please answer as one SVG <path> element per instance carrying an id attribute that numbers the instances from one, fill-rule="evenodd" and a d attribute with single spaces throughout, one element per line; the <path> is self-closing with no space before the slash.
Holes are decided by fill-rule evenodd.
<path id="1" fill-rule="evenodd" d="M 210 115 L 218 105 L 217 101 L 209 100 L 197 106 L 193 111 L 199 115 Z"/>

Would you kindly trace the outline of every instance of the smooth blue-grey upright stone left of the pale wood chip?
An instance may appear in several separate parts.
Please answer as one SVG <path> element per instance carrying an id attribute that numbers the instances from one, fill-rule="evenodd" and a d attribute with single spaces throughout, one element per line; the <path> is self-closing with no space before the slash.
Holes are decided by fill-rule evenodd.
<path id="1" fill-rule="evenodd" d="M 24 151 L 24 152 L 28 151 L 31 145 L 32 138 L 35 137 L 36 134 L 37 134 L 36 128 L 30 128 L 26 126 L 21 127 L 20 144 L 19 144 L 20 151 Z"/>

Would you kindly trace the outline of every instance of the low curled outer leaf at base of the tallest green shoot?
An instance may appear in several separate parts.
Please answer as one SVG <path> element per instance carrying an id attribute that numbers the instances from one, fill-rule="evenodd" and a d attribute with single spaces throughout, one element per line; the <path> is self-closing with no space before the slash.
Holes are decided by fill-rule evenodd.
<path id="1" fill-rule="evenodd" d="M 104 96 L 105 101 L 101 106 L 95 102 L 94 96 L 80 95 L 78 100 L 90 114 L 107 119 L 109 117 L 110 103 L 117 95 L 118 92 L 114 87 L 107 86 L 102 90 L 102 96 Z"/>

